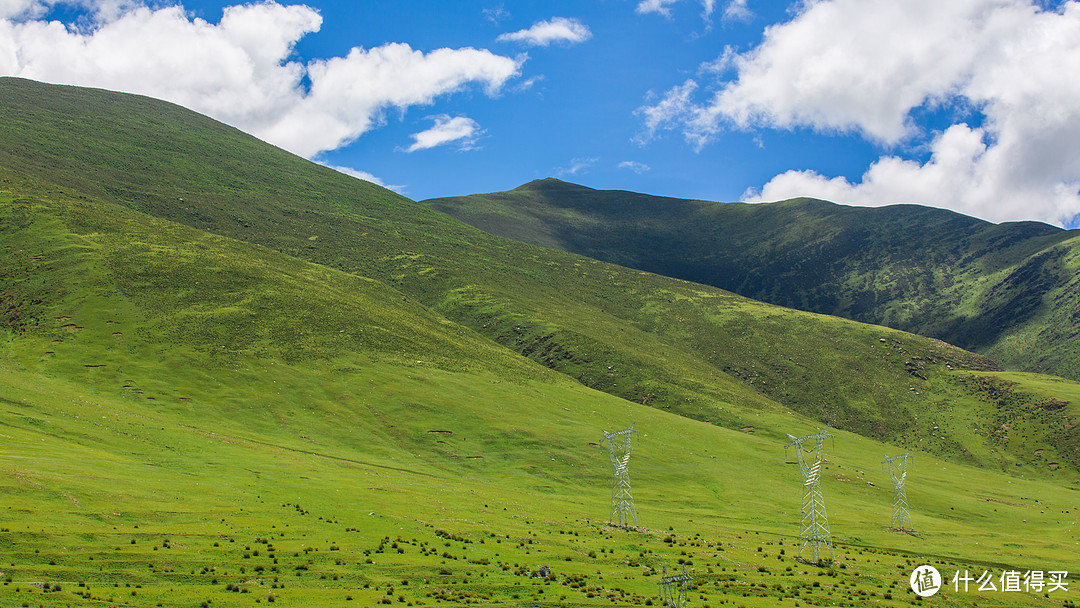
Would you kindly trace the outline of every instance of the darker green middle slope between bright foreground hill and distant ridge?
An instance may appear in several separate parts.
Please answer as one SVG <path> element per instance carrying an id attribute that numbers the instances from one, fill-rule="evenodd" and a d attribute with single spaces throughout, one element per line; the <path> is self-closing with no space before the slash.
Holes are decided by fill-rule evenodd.
<path id="1" fill-rule="evenodd" d="M 589 387 L 733 429 L 793 410 L 958 461 L 1052 473 L 951 415 L 991 404 L 949 368 L 993 364 L 941 342 L 490 237 L 160 102 L 2 79 L 0 103 L 2 166 L 383 281 Z M 944 437 L 916 422 L 931 414 Z M 1080 461 L 1069 414 L 1049 416 L 1030 434 L 1056 432 L 1055 458 Z"/>

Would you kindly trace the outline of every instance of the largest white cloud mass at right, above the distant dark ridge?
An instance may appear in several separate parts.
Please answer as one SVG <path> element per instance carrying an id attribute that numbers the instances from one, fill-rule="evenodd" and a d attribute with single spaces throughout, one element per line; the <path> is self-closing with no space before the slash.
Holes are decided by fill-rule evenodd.
<path id="1" fill-rule="evenodd" d="M 748 194 L 947 206 L 991 220 L 1069 224 L 1080 213 L 1080 3 L 1028 0 L 821 0 L 730 56 L 733 80 L 694 79 L 642 108 L 648 134 L 696 147 L 727 129 L 856 134 L 893 149 L 928 141 L 920 163 L 875 162 L 862 181 L 809 172 Z M 916 110 L 956 104 L 982 124 L 926 133 Z"/>

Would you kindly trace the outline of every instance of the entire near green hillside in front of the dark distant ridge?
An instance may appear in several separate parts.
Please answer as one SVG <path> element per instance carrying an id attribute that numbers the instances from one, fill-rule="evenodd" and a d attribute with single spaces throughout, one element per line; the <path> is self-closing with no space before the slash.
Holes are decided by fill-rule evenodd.
<path id="1" fill-rule="evenodd" d="M 679 560 L 694 606 L 900 606 L 919 563 L 1078 559 L 1074 382 L 491 237 L 160 102 L 0 109 L 0 606 L 645 605 Z M 833 568 L 793 559 L 782 450 L 822 420 Z M 630 422 L 643 531 L 603 525 Z"/>

